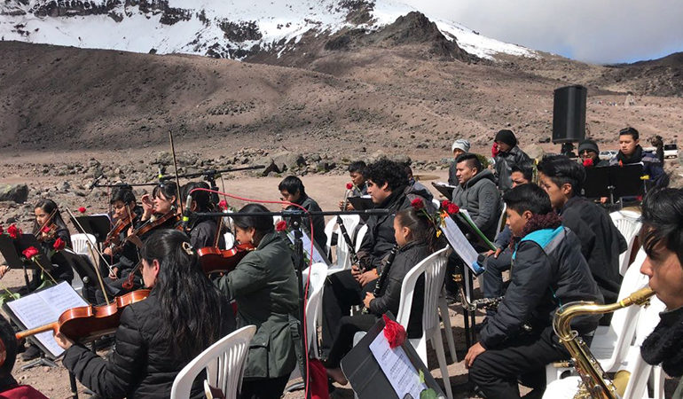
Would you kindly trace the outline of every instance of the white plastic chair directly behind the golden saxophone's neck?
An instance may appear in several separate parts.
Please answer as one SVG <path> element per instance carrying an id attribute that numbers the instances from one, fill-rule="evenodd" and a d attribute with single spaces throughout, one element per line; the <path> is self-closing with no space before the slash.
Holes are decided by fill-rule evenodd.
<path id="1" fill-rule="evenodd" d="M 638 252 L 635 261 L 624 276 L 622 286 L 619 289 L 618 299 L 621 300 L 640 288 L 648 285 L 648 277 L 640 274 L 640 265 L 645 262 L 645 251 Z M 601 325 L 595 330 L 591 342 L 591 353 L 600 362 L 605 372 L 616 372 L 628 354 L 629 346 L 636 334 L 636 321 L 639 317 L 640 308 L 630 306 L 619 309 L 612 315 L 609 325 Z M 546 365 L 546 382 L 559 379 L 563 372 L 573 370 L 571 368 L 554 367 Z"/>

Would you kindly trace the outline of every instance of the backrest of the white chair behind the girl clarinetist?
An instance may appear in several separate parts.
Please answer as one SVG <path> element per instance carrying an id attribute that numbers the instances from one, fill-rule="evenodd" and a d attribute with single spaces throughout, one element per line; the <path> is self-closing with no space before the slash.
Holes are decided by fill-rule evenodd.
<path id="1" fill-rule="evenodd" d="M 425 298 L 422 312 L 422 330 L 428 332 L 433 328 L 439 328 L 438 299 L 441 287 L 444 285 L 446 273 L 446 246 L 444 249 L 430 254 L 422 262 L 412 267 L 405 275 L 401 286 L 401 303 L 398 306 L 396 321 L 408 328 L 411 316 L 412 294 L 415 292 L 415 284 L 420 275 L 425 275 Z"/>

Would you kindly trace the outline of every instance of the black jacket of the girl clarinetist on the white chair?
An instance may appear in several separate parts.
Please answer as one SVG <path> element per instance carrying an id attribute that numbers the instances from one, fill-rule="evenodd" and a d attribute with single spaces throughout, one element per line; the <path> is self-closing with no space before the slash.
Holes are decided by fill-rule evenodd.
<path id="1" fill-rule="evenodd" d="M 401 286 L 405 275 L 415 265 L 429 256 L 427 244 L 411 242 L 398 249 L 394 262 L 389 267 L 389 275 L 381 278 L 381 287 L 377 298 L 370 301 L 370 311 L 375 316 L 381 317 L 388 310 L 392 314 L 398 314 L 398 305 L 401 303 Z M 384 270 L 386 273 L 387 270 Z M 425 277 L 418 278 L 415 291 L 412 294 L 411 317 L 408 324 L 408 337 L 419 338 L 422 335 L 422 308 L 424 307 Z"/>

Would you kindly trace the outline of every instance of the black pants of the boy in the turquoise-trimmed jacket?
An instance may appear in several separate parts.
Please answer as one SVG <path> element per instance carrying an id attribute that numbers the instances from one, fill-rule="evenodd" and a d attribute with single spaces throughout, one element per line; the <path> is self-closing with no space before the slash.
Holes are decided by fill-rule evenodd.
<path id="1" fill-rule="evenodd" d="M 540 394 L 546 387 L 546 364 L 569 359 L 569 353 L 556 342 L 553 327 L 540 334 L 515 337 L 477 356 L 469 379 L 488 398 L 519 398 L 518 379 L 534 388 L 534 394 Z"/>

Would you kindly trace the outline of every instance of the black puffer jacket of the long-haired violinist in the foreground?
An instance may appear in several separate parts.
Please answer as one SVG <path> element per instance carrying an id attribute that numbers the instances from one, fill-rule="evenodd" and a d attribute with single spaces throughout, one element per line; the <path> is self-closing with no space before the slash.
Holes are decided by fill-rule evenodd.
<path id="1" fill-rule="evenodd" d="M 220 337 L 235 330 L 235 318 L 227 301 L 224 317 L 216 320 Z M 178 359 L 167 352 L 168 344 L 158 336 L 160 303 L 152 292 L 147 299 L 123 310 L 116 330 L 116 344 L 109 360 L 75 344 L 67 349 L 63 364 L 82 384 L 107 398 L 168 398 L 177 373 L 192 359 Z M 199 354 L 197 354 L 199 355 Z M 192 397 L 204 397 L 200 383 Z"/>

